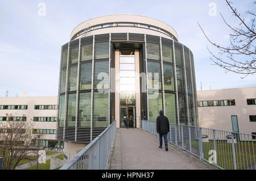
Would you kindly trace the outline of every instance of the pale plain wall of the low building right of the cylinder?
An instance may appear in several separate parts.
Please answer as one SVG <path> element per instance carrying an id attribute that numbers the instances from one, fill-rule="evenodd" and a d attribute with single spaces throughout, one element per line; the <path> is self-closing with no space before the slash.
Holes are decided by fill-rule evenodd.
<path id="1" fill-rule="evenodd" d="M 249 119 L 249 115 L 256 115 L 256 105 L 247 105 L 247 99 L 253 98 L 256 98 L 256 87 L 197 91 L 198 101 L 236 100 L 236 106 L 198 107 L 199 126 L 233 131 L 231 116 L 236 115 L 241 133 L 256 132 L 256 123 Z"/>

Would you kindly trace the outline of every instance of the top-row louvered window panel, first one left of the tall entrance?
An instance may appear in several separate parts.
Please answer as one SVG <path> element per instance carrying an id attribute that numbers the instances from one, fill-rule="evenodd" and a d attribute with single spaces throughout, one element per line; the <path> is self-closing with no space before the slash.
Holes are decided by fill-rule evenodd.
<path id="1" fill-rule="evenodd" d="M 109 58 L 109 34 L 95 36 L 95 60 Z"/>

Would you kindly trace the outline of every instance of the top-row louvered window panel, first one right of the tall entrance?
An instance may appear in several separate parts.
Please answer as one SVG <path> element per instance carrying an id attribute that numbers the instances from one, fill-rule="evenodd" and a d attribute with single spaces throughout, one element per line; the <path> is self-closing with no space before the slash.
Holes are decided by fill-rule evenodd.
<path id="1" fill-rule="evenodd" d="M 160 60 L 160 37 L 146 35 L 147 59 Z"/>

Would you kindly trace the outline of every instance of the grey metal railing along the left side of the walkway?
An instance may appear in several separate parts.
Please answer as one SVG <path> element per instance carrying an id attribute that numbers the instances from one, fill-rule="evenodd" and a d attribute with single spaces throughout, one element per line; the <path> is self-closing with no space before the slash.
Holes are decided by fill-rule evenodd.
<path id="1" fill-rule="evenodd" d="M 100 135 L 79 151 L 60 170 L 98 170 L 106 169 L 111 146 L 114 142 L 116 121 L 109 125 Z M 100 141 L 104 139 L 102 144 Z M 103 151 L 103 153 L 102 153 Z"/>

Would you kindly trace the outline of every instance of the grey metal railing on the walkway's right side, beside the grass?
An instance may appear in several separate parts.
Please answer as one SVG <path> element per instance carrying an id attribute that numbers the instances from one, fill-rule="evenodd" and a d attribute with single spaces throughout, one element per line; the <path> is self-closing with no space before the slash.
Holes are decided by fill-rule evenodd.
<path id="1" fill-rule="evenodd" d="M 142 120 L 142 129 L 156 133 L 156 122 Z M 207 137 L 204 137 L 207 135 Z M 256 135 L 170 124 L 168 142 L 209 162 L 219 169 L 256 169 Z"/>

